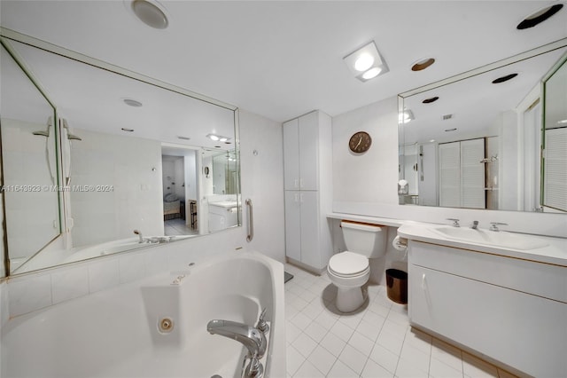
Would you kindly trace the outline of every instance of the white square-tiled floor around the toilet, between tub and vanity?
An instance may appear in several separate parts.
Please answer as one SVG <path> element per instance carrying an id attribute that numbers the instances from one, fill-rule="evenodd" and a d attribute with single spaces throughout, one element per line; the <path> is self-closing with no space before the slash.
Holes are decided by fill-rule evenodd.
<path id="1" fill-rule="evenodd" d="M 287 374 L 292 378 L 477 378 L 514 375 L 409 327 L 408 307 L 368 287 L 361 311 L 340 314 L 326 274 L 291 264 L 285 284 Z"/>

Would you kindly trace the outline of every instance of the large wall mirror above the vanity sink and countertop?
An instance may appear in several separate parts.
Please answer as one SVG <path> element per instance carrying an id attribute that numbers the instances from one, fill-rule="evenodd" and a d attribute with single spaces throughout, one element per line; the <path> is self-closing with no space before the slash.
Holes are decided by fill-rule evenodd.
<path id="1" fill-rule="evenodd" d="M 566 212 L 565 46 L 563 39 L 401 94 L 400 204 Z M 553 120 L 544 120 L 550 107 Z M 550 193 L 563 194 L 552 205 Z"/>

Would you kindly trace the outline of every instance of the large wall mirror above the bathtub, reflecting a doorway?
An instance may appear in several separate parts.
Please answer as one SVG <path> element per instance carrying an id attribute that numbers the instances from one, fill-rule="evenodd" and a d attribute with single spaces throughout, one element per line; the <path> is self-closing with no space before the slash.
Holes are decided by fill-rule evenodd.
<path id="1" fill-rule="evenodd" d="M 236 107 L 3 34 L 10 274 L 241 224 Z M 214 156 L 227 167 L 221 193 L 206 172 Z"/>

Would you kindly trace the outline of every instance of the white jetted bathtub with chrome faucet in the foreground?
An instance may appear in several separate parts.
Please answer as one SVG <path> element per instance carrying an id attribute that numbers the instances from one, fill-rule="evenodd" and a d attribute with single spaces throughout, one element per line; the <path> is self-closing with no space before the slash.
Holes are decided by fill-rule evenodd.
<path id="1" fill-rule="evenodd" d="M 11 319 L 2 329 L 2 377 L 240 377 L 245 347 L 210 335 L 206 324 L 253 326 L 263 307 L 265 376 L 284 377 L 283 265 L 252 252 Z"/>

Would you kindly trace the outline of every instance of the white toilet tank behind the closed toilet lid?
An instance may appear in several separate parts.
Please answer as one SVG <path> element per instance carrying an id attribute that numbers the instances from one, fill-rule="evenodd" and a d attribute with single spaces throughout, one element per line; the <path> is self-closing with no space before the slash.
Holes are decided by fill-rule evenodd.
<path id="1" fill-rule="evenodd" d="M 346 250 L 369 258 L 384 256 L 387 227 L 349 221 L 342 221 L 340 226 L 343 230 Z"/>

